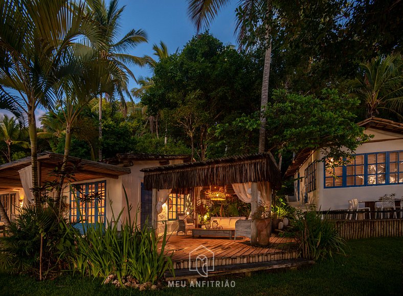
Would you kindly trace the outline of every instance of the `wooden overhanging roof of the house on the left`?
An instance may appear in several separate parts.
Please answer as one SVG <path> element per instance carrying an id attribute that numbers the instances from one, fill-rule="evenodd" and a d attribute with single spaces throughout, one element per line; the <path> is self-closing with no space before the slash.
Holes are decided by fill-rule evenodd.
<path id="1" fill-rule="evenodd" d="M 52 152 L 38 153 L 38 165 L 40 166 L 41 176 L 43 181 L 52 179 L 50 172 L 60 166 L 63 161 L 63 155 Z M 81 158 L 69 157 L 69 161 L 79 163 L 80 166 L 75 173 L 77 180 L 91 180 L 97 178 L 114 178 L 117 179 L 120 175 L 129 174 L 129 168 L 118 167 L 109 164 L 103 164 Z M 21 158 L 15 162 L 7 163 L 0 166 L 0 190 L 22 188 L 18 170 L 31 165 L 31 157 Z"/>

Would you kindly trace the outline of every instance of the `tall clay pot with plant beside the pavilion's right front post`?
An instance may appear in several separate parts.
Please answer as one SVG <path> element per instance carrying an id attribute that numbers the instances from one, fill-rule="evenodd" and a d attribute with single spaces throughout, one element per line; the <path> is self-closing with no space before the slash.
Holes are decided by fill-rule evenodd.
<path id="1" fill-rule="evenodd" d="M 259 245 L 268 245 L 272 234 L 272 212 L 263 201 L 259 200 L 258 207 L 255 213 L 253 213 L 252 219 L 256 220 L 257 243 Z"/>

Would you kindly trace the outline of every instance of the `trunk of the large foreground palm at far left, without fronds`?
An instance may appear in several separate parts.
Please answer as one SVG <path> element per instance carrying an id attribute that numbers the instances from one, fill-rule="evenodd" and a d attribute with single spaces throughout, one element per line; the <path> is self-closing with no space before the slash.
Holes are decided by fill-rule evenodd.
<path id="1" fill-rule="evenodd" d="M 40 208 L 39 184 L 38 184 L 38 154 L 36 151 L 37 134 L 35 111 L 32 107 L 28 108 L 28 133 L 31 142 L 31 167 L 32 167 L 32 189 L 35 201 L 35 207 Z"/>

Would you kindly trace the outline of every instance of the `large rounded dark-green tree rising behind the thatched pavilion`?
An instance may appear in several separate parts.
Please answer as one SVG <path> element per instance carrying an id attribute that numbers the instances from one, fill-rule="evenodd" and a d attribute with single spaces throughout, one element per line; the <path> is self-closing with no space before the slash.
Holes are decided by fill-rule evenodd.
<path id="1" fill-rule="evenodd" d="M 215 143 L 211 128 L 232 122 L 240 110 L 258 109 L 260 72 L 261 64 L 254 57 L 225 47 L 207 32 L 155 65 L 154 85 L 141 101 L 149 115 L 161 113 L 161 126 L 169 134 L 204 159 Z M 235 147 L 230 148 L 236 151 Z M 215 155 L 226 153 L 225 145 L 219 146 L 220 151 L 217 148 Z"/>

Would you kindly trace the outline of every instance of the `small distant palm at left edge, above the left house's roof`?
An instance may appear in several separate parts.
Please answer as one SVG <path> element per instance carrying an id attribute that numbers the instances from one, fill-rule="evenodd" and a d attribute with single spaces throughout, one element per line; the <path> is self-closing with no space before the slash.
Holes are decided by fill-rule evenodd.
<path id="1" fill-rule="evenodd" d="M 5 154 L 8 162 L 11 162 L 11 145 L 30 148 L 28 142 L 21 141 L 26 135 L 26 131 L 21 129 L 14 117 L 0 116 L 0 140 L 3 140 L 7 145 L 7 153 Z"/>

